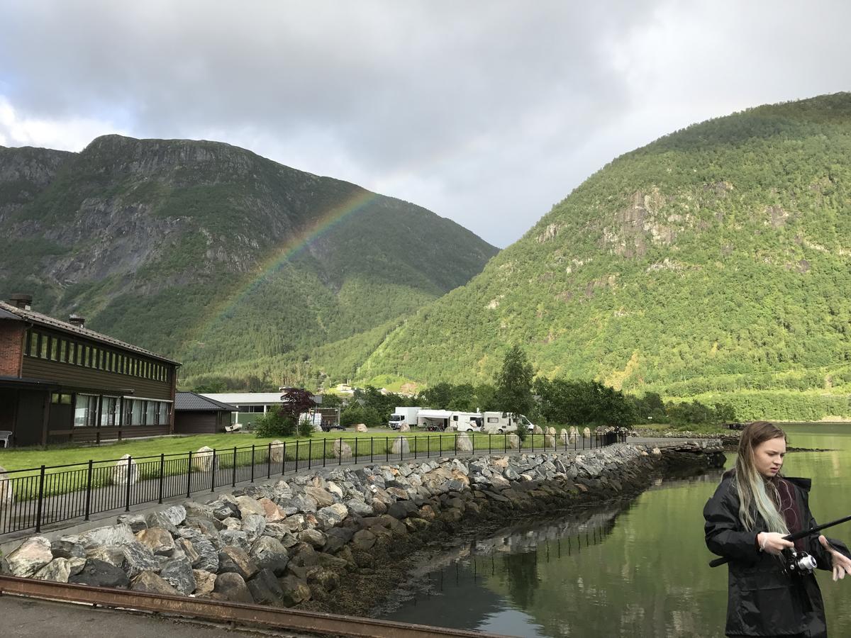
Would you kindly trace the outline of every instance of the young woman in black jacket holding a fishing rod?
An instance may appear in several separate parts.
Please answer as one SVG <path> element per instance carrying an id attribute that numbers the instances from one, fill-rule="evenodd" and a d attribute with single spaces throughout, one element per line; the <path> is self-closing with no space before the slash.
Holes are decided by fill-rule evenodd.
<path id="1" fill-rule="evenodd" d="M 745 426 L 735 468 L 724 474 L 703 510 L 706 546 L 729 559 L 729 636 L 827 635 L 814 575 L 786 573 L 782 550 L 808 552 L 820 569 L 833 570 L 834 580 L 851 574 L 844 544 L 824 536 L 795 543 L 783 538 L 816 525 L 809 479 L 780 475 L 785 453 L 786 436 L 779 427 L 766 421 Z"/>

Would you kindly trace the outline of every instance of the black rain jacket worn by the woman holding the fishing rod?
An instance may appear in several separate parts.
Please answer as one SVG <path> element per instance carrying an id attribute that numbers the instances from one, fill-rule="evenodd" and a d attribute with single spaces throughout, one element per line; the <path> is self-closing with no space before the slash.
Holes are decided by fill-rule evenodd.
<path id="1" fill-rule="evenodd" d="M 757 516 L 757 531 L 748 532 L 739 520 L 739 495 L 733 485 L 733 471 L 724 474 L 721 484 L 703 510 L 706 547 L 728 558 L 727 635 L 805 635 L 826 636 L 825 605 L 815 576 L 783 572 L 779 556 L 759 551 L 757 533 L 765 524 Z M 809 529 L 816 522 L 809 510 L 810 480 L 785 477 L 795 489 L 802 522 Z M 843 554 L 848 548 L 828 538 Z M 820 569 L 831 570 L 831 555 L 819 543 L 819 535 L 806 539 L 808 554 Z"/>

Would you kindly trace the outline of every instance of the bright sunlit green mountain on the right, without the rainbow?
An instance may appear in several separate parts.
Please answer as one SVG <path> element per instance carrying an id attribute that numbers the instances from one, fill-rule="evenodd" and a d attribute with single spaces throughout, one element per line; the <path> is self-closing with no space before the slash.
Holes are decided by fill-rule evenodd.
<path id="1" fill-rule="evenodd" d="M 763 105 L 618 157 L 360 368 L 540 374 L 740 418 L 851 415 L 851 94 Z"/>

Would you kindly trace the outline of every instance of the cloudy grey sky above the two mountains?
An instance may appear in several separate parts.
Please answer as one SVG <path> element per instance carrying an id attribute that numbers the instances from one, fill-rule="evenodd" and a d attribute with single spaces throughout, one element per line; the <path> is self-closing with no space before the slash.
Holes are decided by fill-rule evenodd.
<path id="1" fill-rule="evenodd" d="M 851 90 L 845 0 L 2 0 L 0 145 L 218 140 L 500 248 L 622 153 Z"/>

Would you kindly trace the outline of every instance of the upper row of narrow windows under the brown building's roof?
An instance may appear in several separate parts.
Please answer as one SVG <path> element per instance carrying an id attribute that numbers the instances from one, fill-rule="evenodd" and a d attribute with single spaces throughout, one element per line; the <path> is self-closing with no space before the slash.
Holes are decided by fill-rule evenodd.
<path id="1" fill-rule="evenodd" d="M 40 333 L 37 330 L 26 332 L 24 353 L 37 359 L 168 382 L 168 366 L 162 363 L 107 350 L 99 345 L 82 344 L 54 334 Z"/>

